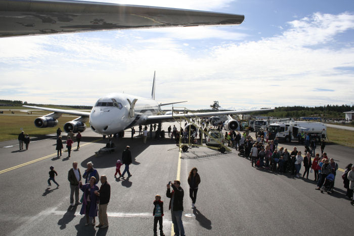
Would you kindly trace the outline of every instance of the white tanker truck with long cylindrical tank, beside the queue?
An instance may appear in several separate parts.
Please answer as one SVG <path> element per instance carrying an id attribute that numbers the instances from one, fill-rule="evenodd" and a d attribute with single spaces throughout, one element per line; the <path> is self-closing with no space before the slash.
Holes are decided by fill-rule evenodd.
<path id="1" fill-rule="evenodd" d="M 297 134 L 301 131 L 311 135 L 319 143 L 321 138 L 327 138 L 327 127 L 322 122 L 289 121 L 270 124 L 268 127 L 269 138 L 289 143 L 292 139 L 297 139 Z"/>

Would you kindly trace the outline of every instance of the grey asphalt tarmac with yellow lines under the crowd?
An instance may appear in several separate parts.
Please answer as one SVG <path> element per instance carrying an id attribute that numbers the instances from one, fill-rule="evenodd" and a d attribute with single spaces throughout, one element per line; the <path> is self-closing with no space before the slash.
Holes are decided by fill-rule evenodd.
<path id="1" fill-rule="evenodd" d="M 163 129 L 173 124 L 180 127 L 178 123 L 164 123 Z M 91 130 L 82 134 L 81 148 L 73 150 L 70 158 L 66 152 L 57 158 L 53 135 L 31 142 L 27 151 L 18 151 L 17 140 L 0 143 L 1 235 L 153 235 L 156 194 L 164 201 L 163 230 L 171 235 L 169 199 L 165 192 L 168 181 L 176 178 L 180 178 L 185 191 L 186 235 L 352 234 L 354 206 L 345 198 L 340 170 L 335 192 L 328 195 L 315 190 L 313 173 L 309 179 L 302 179 L 259 170 L 239 157 L 235 149 L 222 154 L 194 147 L 180 153 L 167 134 L 165 138 L 148 138 L 144 145 L 141 136 L 131 139 L 130 132 L 125 132 L 125 137 L 114 139 L 115 152 L 96 156 L 95 152 L 105 146 L 107 139 Z M 126 145 L 130 146 L 134 159 L 130 165 L 132 176 L 114 178 L 116 160 L 121 158 Z M 292 150 L 296 145 L 279 147 Z M 297 147 L 303 151 L 303 147 Z M 352 148 L 327 145 L 325 151 L 341 169 L 354 163 Z M 81 174 L 86 163 L 92 161 L 100 175 L 107 175 L 111 184 L 108 228 L 84 226 L 85 218 L 79 214 L 81 206 L 70 207 L 67 173 L 73 161 L 78 162 Z M 59 188 L 54 184 L 47 186 L 50 166 L 58 172 Z M 187 183 L 193 167 L 198 168 L 201 176 L 194 209 Z M 303 169 L 302 166 L 300 173 Z"/>

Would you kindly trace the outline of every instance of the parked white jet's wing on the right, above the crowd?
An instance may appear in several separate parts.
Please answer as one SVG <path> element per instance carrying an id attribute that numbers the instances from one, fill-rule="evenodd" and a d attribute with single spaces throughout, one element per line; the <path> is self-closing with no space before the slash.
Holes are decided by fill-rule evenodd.
<path id="1" fill-rule="evenodd" d="M 273 111 L 274 109 L 259 109 L 259 110 L 244 110 L 244 111 L 223 111 L 223 112 L 202 112 L 202 113 L 187 113 L 187 114 L 170 114 L 170 115 L 157 115 L 157 116 L 148 116 L 146 121 L 148 123 L 157 123 L 165 121 L 174 121 L 179 120 L 180 118 L 195 118 L 195 117 L 209 117 L 217 115 L 229 115 L 229 114 L 241 114 L 241 113 L 250 113 L 250 112 L 259 112 L 259 111 Z"/>

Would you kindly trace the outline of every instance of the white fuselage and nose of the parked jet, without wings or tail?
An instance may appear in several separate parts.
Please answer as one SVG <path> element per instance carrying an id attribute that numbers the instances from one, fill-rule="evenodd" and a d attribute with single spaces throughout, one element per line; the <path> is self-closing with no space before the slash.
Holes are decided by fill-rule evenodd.
<path id="1" fill-rule="evenodd" d="M 130 112 L 130 103 L 137 99 Z M 96 133 L 109 135 L 119 133 L 131 126 L 145 124 L 145 117 L 157 115 L 158 103 L 126 93 L 110 93 L 100 98 L 90 113 L 90 126 Z"/>

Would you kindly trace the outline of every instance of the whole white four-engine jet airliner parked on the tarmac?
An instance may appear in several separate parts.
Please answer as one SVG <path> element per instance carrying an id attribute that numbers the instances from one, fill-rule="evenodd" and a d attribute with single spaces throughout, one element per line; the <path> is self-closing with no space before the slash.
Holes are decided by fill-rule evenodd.
<path id="1" fill-rule="evenodd" d="M 269 111 L 273 109 L 260 109 L 260 110 L 247 110 L 247 111 L 223 111 L 223 112 L 205 112 L 205 113 L 188 113 L 188 114 L 165 114 L 157 115 L 160 106 L 182 103 L 165 103 L 159 104 L 155 101 L 155 78 L 151 91 L 151 98 L 141 98 L 134 95 L 128 95 L 126 93 L 110 93 L 107 96 L 100 98 L 91 112 L 70 111 L 63 109 L 43 108 L 34 106 L 25 106 L 28 108 L 40 109 L 44 111 L 51 111 L 53 113 L 46 116 L 38 117 L 34 120 L 34 124 L 38 128 L 54 127 L 58 123 L 58 118 L 62 114 L 71 114 L 80 116 L 79 118 L 69 121 L 64 124 L 65 132 L 72 130 L 74 133 L 80 131 L 83 132 L 86 129 L 85 122 L 90 119 L 91 129 L 96 133 L 103 135 L 120 134 L 124 135 L 124 130 L 136 125 L 147 125 L 154 123 L 161 123 L 166 121 L 174 121 L 180 118 L 195 118 L 195 117 L 209 117 L 214 115 L 229 115 L 240 114 L 256 111 Z M 228 116 L 229 119 L 224 123 L 226 130 L 236 130 L 239 127 L 239 123 Z M 187 124 L 186 129 L 197 128 L 193 124 Z"/>

